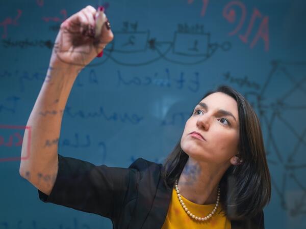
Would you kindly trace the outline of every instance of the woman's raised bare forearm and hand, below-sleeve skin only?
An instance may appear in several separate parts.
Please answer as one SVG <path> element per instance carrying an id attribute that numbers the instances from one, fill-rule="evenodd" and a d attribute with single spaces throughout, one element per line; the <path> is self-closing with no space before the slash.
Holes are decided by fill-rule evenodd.
<path id="1" fill-rule="evenodd" d="M 52 191 L 58 173 L 58 139 L 66 102 L 78 73 L 113 39 L 103 23 L 103 11 L 87 6 L 60 27 L 45 82 L 39 92 L 23 136 L 19 173 L 45 194 Z M 101 20 L 98 20 L 100 18 Z M 97 24 L 99 24 L 97 23 Z M 30 145 L 30 152 L 28 150 Z M 49 179 L 41 179 L 41 177 Z"/>

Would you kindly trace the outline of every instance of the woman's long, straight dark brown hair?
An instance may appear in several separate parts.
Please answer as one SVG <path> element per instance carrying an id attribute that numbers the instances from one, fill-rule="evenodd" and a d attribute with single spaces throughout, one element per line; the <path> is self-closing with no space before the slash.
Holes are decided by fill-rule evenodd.
<path id="1" fill-rule="evenodd" d="M 271 180 L 260 121 L 249 102 L 228 85 L 220 85 L 210 94 L 222 92 L 234 98 L 238 105 L 240 165 L 231 165 L 220 181 L 220 201 L 229 219 L 256 216 L 270 202 Z M 201 99 L 201 100 L 202 100 Z M 182 138 L 182 136 L 181 136 Z M 173 187 L 188 160 L 181 148 L 181 138 L 163 162 L 161 176 L 167 187 Z"/>

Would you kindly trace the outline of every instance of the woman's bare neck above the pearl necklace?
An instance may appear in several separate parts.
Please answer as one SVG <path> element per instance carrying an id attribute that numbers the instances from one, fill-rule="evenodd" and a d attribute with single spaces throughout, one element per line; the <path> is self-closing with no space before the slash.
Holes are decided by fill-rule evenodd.
<path id="1" fill-rule="evenodd" d="M 226 169 L 189 157 L 178 182 L 181 195 L 196 204 L 215 204 L 218 185 Z"/>

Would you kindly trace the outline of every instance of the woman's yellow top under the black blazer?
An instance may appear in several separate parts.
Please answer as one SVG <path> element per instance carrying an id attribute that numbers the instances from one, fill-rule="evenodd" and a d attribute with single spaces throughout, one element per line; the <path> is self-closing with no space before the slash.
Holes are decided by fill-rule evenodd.
<path id="1" fill-rule="evenodd" d="M 211 205 L 195 204 L 193 202 L 188 201 L 188 199 L 182 196 L 182 194 L 181 197 L 188 210 L 196 216 L 206 217 L 213 211 L 215 207 L 215 204 Z M 212 218 L 208 219 L 207 221 L 199 221 L 192 219 L 189 215 L 187 215 L 187 213 L 183 209 L 179 201 L 179 198 L 177 198 L 176 191 L 173 188 L 168 213 L 166 216 L 166 220 L 162 226 L 162 229 L 177 229 L 177 228 L 231 229 L 231 221 L 228 220 L 226 216 L 223 216 L 224 212 L 223 211 L 220 212 L 220 210 L 221 210 L 221 205 L 219 203 L 217 211 L 212 216 Z"/>

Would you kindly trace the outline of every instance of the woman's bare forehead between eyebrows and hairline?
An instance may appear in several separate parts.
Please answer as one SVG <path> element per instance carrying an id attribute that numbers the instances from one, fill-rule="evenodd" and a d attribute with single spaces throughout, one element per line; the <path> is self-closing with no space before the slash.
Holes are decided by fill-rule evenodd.
<path id="1" fill-rule="evenodd" d="M 238 106 L 237 102 L 231 96 L 228 96 L 222 92 L 213 93 L 200 102 L 204 102 L 207 104 L 209 110 L 226 110 L 233 113 L 236 120 L 238 120 Z"/>

